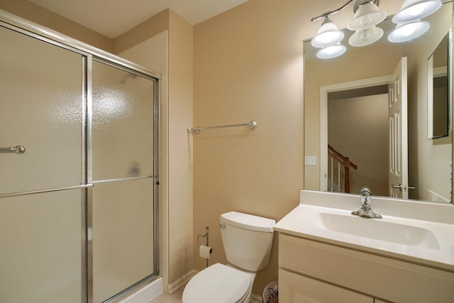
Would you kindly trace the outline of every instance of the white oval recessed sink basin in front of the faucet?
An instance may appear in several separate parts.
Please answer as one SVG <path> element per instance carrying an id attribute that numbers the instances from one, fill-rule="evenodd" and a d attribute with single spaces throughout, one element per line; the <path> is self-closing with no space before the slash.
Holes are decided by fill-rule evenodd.
<path id="1" fill-rule="evenodd" d="M 348 233 L 363 238 L 418 246 L 426 249 L 440 249 L 432 231 L 426 228 L 397 224 L 380 219 L 366 219 L 353 215 L 318 213 L 314 226 L 329 231 Z"/>

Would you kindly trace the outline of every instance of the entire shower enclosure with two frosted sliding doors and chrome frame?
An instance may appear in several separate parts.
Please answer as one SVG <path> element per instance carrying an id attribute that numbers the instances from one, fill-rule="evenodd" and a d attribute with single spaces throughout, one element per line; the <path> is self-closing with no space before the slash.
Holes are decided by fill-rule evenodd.
<path id="1" fill-rule="evenodd" d="M 158 275 L 160 75 L 0 11 L 0 302 Z"/>

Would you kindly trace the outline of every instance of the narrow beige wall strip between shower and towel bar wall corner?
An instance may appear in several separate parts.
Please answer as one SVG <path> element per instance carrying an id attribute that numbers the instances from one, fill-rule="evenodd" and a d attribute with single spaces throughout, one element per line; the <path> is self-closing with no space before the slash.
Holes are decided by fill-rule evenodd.
<path id="1" fill-rule="evenodd" d="M 192 26 L 170 11 L 169 23 L 169 282 L 170 291 L 192 264 Z"/>

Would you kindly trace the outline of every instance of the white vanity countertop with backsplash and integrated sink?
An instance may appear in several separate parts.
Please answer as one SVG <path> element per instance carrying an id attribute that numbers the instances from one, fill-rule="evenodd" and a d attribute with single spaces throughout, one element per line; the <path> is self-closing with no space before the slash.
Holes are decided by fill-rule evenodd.
<path id="1" fill-rule="evenodd" d="M 372 209 L 383 219 L 366 219 L 350 214 L 359 209 L 359 201 L 359 196 L 353 194 L 301 191 L 300 204 L 277 222 L 274 229 L 454 272 L 453 205 L 372 197 Z M 341 231 L 331 225 L 333 221 L 341 224 L 337 225 Z M 394 234 L 396 227 L 398 231 Z M 413 241 L 414 234 L 421 234 L 426 240 Z"/>

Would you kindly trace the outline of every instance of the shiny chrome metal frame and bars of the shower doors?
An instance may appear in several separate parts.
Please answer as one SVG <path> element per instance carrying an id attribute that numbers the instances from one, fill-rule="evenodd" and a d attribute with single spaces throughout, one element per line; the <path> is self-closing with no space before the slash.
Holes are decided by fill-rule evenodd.
<path id="1" fill-rule="evenodd" d="M 4 28 L 9 28 L 11 31 L 16 31 L 18 33 L 28 35 L 31 38 L 41 40 L 45 43 L 50 43 L 60 48 L 64 48 L 68 51 L 78 53 L 82 56 L 82 64 L 84 74 L 81 75 L 82 82 L 84 83 L 84 92 L 83 92 L 83 102 L 82 106 L 82 179 L 83 184 L 73 187 L 63 187 L 55 189 L 41 189 L 34 190 L 30 192 L 15 192 L 11 194 L 0 194 L 2 197 L 15 197 L 22 196 L 27 194 L 38 194 L 44 192 L 57 192 L 68 189 L 85 189 L 84 199 L 82 199 L 82 290 L 81 297 L 82 302 L 93 303 L 93 272 L 92 272 L 92 260 L 93 260 L 93 251 L 92 245 L 89 244 L 88 240 L 88 229 L 92 228 L 92 191 L 94 183 L 92 180 L 92 62 L 102 62 L 111 67 L 116 67 L 120 70 L 126 72 L 131 72 L 140 77 L 150 79 L 153 81 L 153 175 L 145 177 L 132 177 L 126 178 L 127 180 L 134 179 L 153 179 L 153 273 L 148 277 L 145 277 L 143 280 L 136 282 L 134 285 L 131 285 L 126 290 L 116 294 L 111 299 L 107 299 L 105 302 L 114 302 L 117 299 L 126 297 L 127 294 L 130 294 L 131 291 L 141 287 L 148 282 L 153 281 L 156 277 L 160 275 L 160 215 L 159 215 L 159 150 L 160 150 L 160 85 L 162 76 L 159 72 L 149 70 L 145 67 L 141 67 L 133 62 L 124 60 L 121 57 L 108 53 L 99 48 L 95 48 L 92 45 L 83 43 L 74 38 L 70 38 L 67 35 L 63 35 L 57 31 L 53 31 L 44 26 L 40 26 L 37 23 L 33 23 L 24 18 L 15 16 L 7 11 L 0 9 L 0 26 Z M 107 180 L 111 181 L 111 180 Z M 118 180 L 115 180 L 118 181 Z M 105 182 L 105 181 L 101 181 Z M 91 282 L 90 282 L 91 281 Z"/>

